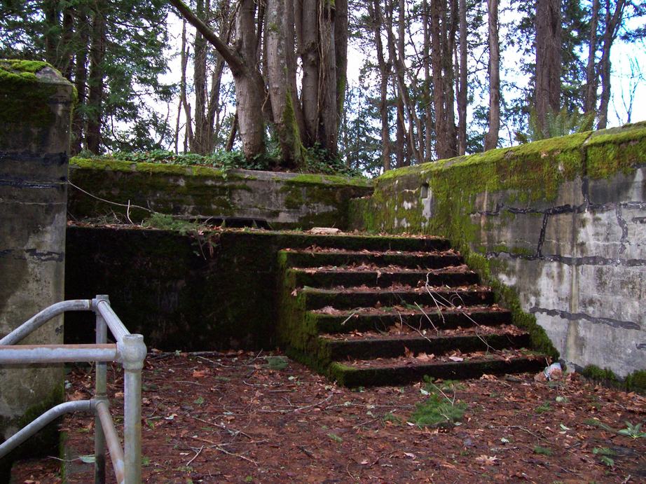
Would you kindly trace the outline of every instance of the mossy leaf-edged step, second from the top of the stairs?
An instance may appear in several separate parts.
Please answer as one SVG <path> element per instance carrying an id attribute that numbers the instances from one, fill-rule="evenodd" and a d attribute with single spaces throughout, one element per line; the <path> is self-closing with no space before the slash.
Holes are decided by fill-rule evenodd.
<path id="1" fill-rule="evenodd" d="M 308 268 L 349 265 L 376 264 L 400 265 L 404 268 L 438 269 L 451 265 L 462 265 L 462 257 L 453 251 L 317 251 L 297 250 L 281 251 L 287 267 Z"/>

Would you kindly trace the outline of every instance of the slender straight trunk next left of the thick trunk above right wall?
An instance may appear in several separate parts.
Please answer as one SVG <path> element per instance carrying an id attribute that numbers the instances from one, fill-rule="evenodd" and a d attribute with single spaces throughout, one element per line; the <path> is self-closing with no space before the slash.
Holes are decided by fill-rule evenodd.
<path id="1" fill-rule="evenodd" d="M 500 45 L 498 43 L 498 0 L 488 0 L 489 23 L 489 130 L 485 151 L 498 146 L 500 131 Z"/>

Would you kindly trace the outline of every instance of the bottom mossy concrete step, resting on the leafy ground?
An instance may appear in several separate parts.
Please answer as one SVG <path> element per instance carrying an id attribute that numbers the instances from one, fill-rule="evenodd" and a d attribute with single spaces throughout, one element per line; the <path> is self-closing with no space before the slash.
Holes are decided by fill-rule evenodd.
<path id="1" fill-rule="evenodd" d="M 462 355 L 464 361 L 437 361 L 432 363 L 334 362 L 329 374 L 339 385 L 346 387 L 369 387 L 376 385 L 404 385 L 429 378 L 460 380 L 479 378 L 483 374 L 500 375 L 504 373 L 537 372 L 545 366 L 544 357 L 537 355 L 489 354 L 474 358 Z"/>

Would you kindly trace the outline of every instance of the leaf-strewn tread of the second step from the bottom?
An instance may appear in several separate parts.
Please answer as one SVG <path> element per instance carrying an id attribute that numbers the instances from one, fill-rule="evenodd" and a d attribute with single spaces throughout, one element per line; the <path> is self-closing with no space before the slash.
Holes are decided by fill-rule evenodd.
<path id="1" fill-rule="evenodd" d="M 432 343 L 435 340 L 444 338 L 461 338 L 473 336 L 520 336 L 527 334 L 526 331 L 513 324 L 501 324 L 500 326 L 475 326 L 470 328 L 456 329 L 433 329 L 418 330 L 410 326 L 391 326 L 387 331 L 352 331 L 350 333 L 322 333 L 319 338 L 332 343 L 355 343 L 363 341 L 391 342 L 391 341 L 425 341 Z"/>

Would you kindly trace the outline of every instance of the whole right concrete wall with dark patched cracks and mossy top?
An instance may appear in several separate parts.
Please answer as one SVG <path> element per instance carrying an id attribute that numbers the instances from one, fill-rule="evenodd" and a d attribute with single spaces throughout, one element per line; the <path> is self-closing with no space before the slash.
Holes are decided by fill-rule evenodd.
<path id="1" fill-rule="evenodd" d="M 547 139 L 387 172 L 351 226 L 450 237 L 571 367 L 623 376 L 646 368 L 645 169 L 646 123 Z"/>

